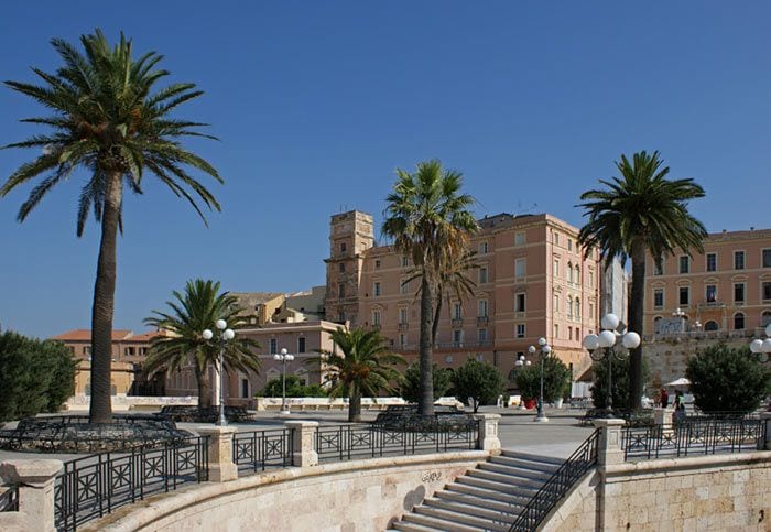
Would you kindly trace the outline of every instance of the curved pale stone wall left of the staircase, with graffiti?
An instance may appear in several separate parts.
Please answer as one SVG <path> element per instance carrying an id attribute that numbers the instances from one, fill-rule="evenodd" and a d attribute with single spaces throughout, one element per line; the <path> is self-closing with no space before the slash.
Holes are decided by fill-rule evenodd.
<path id="1" fill-rule="evenodd" d="M 148 499 L 80 530 L 383 531 L 488 452 L 400 456 L 289 468 Z"/>

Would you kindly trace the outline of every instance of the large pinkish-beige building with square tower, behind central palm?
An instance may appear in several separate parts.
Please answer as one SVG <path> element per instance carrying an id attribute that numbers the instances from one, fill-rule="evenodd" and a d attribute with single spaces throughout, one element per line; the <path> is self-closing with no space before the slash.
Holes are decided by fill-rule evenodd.
<path id="1" fill-rule="evenodd" d="M 598 328 L 598 253 L 585 260 L 578 229 L 547 214 L 501 214 L 479 225 L 470 241 L 475 294 L 444 302 L 436 362 L 457 367 L 474 357 L 513 380 L 517 357 L 529 356 L 528 347 L 543 336 L 577 378 L 590 365 L 582 337 Z M 334 215 L 329 243 L 327 318 L 379 327 L 394 350 L 414 360 L 420 301 L 419 281 L 406 283 L 410 260 L 390 246 L 373 246 L 372 217 L 365 213 Z"/>

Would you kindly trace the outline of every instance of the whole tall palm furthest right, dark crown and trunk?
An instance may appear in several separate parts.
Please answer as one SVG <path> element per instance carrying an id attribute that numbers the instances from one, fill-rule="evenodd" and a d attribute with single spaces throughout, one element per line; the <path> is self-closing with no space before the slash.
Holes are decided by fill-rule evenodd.
<path id="1" fill-rule="evenodd" d="M 589 220 L 580 229 L 578 242 L 585 258 L 599 248 L 606 268 L 615 258 L 632 260 L 632 293 L 629 300 L 629 329 L 642 333 L 645 296 L 645 252 L 656 263 L 675 249 L 689 253 L 704 251 L 704 225 L 688 214 L 689 199 L 704 196 L 704 188 L 693 180 L 666 180 L 669 166 L 659 152 L 636 153 L 631 163 L 626 155 L 616 167 L 621 177 L 600 180 L 607 188 L 587 191 L 580 198 Z M 642 397 L 642 347 L 632 350 L 629 389 L 631 408 L 639 409 Z"/>

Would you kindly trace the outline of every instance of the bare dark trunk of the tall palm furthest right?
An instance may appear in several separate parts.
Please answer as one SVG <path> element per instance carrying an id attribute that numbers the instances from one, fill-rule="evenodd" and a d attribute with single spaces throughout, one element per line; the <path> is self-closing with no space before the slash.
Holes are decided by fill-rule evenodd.
<path id="1" fill-rule="evenodd" d="M 642 335 L 642 317 L 645 301 L 645 245 L 632 243 L 632 293 L 629 297 L 629 330 Z M 629 358 L 629 408 L 642 408 L 642 345 L 632 349 Z M 612 390 L 610 390 L 612 393 Z"/>

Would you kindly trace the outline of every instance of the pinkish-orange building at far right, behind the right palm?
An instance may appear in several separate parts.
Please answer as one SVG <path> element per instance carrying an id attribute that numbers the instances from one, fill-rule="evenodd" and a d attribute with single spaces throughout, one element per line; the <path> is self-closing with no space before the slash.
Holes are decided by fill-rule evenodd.
<path id="1" fill-rule="evenodd" d="M 704 248 L 660 268 L 647 258 L 647 335 L 667 333 L 676 308 L 686 330 L 757 336 L 771 323 L 771 229 L 712 234 Z"/>

